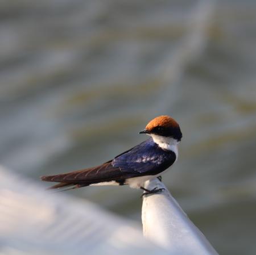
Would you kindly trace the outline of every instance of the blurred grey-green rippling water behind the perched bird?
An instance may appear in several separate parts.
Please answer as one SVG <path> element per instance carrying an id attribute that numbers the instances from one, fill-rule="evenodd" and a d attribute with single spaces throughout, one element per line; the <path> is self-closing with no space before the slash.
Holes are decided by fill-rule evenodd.
<path id="1" fill-rule="evenodd" d="M 256 254 L 255 1 L 6 0 L 0 20 L 0 164 L 40 182 L 171 115 L 164 183 L 220 254 Z M 141 191 L 68 192 L 141 220 Z"/>

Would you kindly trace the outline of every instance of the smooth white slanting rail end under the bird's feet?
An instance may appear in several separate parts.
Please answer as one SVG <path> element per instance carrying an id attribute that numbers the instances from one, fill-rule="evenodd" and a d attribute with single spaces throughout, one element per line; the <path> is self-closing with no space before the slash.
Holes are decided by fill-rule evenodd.
<path id="1" fill-rule="evenodd" d="M 148 190 L 164 189 L 143 197 L 143 235 L 170 250 L 170 254 L 217 255 L 203 233 L 189 220 L 176 200 L 155 178 L 145 183 Z"/>

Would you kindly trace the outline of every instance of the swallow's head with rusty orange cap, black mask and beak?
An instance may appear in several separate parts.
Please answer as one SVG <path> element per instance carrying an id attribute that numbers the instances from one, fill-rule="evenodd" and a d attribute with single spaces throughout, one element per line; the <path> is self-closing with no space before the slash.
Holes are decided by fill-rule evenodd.
<path id="1" fill-rule="evenodd" d="M 139 133 L 146 133 L 147 135 L 156 135 L 162 137 L 171 137 L 177 141 L 181 140 L 182 133 L 179 124 L 175 119 L 167 115 L 158 116 L 152 119 Z"/>

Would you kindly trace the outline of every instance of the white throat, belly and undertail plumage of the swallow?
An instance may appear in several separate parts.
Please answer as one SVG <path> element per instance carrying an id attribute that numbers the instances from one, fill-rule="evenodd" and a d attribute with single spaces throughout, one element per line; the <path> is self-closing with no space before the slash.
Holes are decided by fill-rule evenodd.
<path id="1" fill-rule="evenodd" d="M 154 140 L 154 142 L 156 144 L 159 145 L 160 148 L 166 149 L 168 151 L 173 151 L 175 153 L 175 155 L 176 155 L 176 159 L 174 161 L 174 163 L 175 163 L 177 161 L 177 157 L 179 156 L 178 148 L 177 148 L 179 141 L 177 141 L 176 139 L 174 139 L 172 137 L 164 137 L 164 136 L 153 135 L 153 134 L 151 134 L 150 136 L 152 136 L 152 139 Z M 155 177 L 158 177 L 159 175 L 162 175 L 164 172 L 166 172 L 166 170 L 164 170 L 163 172 L 156 174 L 156 175 L 144 175 L 141 177 L 134 177 L 134 178 L 126 179 L 125 184 L 129 185 L 133 189 L 139 189 L 140 187 L 143 187 L 144 182 L 146 182 L 147 180 L 150 180 L 150 179 L 154 179 Z M 115 181 L 99 182 L 99 183 L 91 184 L 90 186 L 103 186 L 103 185 L 119 185 L 119 183 L 115 182 Z"/>

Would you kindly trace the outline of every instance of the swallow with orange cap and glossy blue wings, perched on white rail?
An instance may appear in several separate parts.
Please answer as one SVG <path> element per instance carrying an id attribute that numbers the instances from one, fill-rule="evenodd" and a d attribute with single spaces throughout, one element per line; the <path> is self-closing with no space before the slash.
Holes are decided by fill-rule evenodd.
<path id="1" fill-rule="evenodd" d="M 129 185 L 142 189 L 144 194 L 158 193 L 163 189 L 148 190 L 145 181 L 155 177 L 162 178 L 178 158 L 178 145 L 182 138 L 179 124 L 167 115 L 152 119 L 141 132 L 149 139 L 135 147 L 118 154 L 112 160 L 92 168 L 69 173 L 44 175 L 42 181 L 58 182 L 48 189 L 77 189 L 97 185 Z M 67 190 L 67 189 L 65 189 Z"/>

